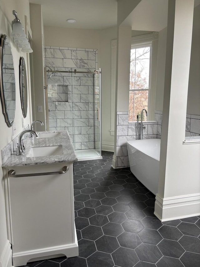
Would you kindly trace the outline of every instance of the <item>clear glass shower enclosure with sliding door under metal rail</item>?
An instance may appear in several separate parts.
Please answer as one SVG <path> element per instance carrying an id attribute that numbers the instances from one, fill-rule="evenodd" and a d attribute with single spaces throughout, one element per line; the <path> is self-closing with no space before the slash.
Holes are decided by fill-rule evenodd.
<path id="1" fill-rule="evenodd" d="M 67 130 L 78 160 L 101 159 L 100 70 L 61 69 L 47 70 L 47 130 Z"/>

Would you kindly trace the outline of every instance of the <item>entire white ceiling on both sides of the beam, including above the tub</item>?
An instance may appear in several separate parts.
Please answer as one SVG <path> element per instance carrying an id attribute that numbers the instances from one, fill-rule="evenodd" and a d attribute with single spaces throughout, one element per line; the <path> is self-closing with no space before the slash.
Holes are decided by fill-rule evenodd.
<path id="1" fill-rule="evenodd" d="M 42 6 L 45 26 L 103 29 L 117 25 L 118 0 L 29 0 Z M 134 0 L 132 0 L 134 1 Z M 195 6 L 200 0 L 195 0 Z M 142 0 L 122 26 L 133 30 L 160 31 L 167 26 L 168 0 Z M 76 23 L 67 23 L 68 18 Z"/>

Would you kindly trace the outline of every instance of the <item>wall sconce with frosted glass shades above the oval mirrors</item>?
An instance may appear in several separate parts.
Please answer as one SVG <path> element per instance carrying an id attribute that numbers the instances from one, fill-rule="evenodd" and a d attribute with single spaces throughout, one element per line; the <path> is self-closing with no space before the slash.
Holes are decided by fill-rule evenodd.
<path id="1" fill-rule="evenodd" d="M 12 10 L 12 14 L 15 16 L 15 19 L 12 21 L 12 33 L 11 36 L 14 38 L 14 42 L 22 52 L 32 53 L 31 45 L 28 42 L 27 36 L 22 27 L 21 21 L 17 17 L 17 12 Z"/>

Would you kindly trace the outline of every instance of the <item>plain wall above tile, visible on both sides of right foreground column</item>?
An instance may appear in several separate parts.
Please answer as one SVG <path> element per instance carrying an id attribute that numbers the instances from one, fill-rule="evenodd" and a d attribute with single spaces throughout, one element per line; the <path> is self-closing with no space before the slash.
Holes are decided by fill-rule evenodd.
<path id="1" fill-rule="evenodd" d="M 159 32 L 156 110 L 163 111 L 167 28 Z M 200 5 L 194 8 L 187 114 L 200 115 Z"/>

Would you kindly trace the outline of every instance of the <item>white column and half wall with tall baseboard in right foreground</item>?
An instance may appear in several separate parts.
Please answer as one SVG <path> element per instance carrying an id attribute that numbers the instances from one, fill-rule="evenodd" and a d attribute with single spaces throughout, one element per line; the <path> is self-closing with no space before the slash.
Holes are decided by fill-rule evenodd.
<path id="1" fill-rule="evenodd" d="M 168 1 L 163 124 L 155 214 L 199 215 L 200 144 L 184 145 L 194 0 Z"/>

